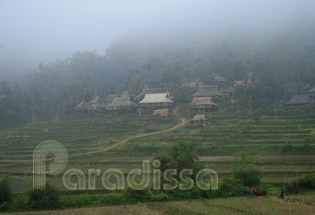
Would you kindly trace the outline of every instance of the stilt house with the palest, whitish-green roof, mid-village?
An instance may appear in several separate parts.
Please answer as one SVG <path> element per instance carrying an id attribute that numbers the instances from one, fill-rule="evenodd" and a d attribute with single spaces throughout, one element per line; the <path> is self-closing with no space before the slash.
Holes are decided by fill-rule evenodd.
<path id="1" fill-rule="evenodd" d="M 168 93 L 145 94 L 139 102 L 140 110 L 171 109 L 173 101 Z"/>

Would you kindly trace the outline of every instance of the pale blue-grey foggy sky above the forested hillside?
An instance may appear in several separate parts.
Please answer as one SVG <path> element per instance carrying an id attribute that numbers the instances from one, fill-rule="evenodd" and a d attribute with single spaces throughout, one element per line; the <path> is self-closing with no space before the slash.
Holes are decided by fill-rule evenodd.
<path id="1" fill-rule="evenodd" d="M 76 51 L 104 55 L 120 42 L 202 46 L 279 34 L 307 41 L 314 35 L 314 10 L 312 0 L 1 0 L 0 79 L 18 79 Z"/>

